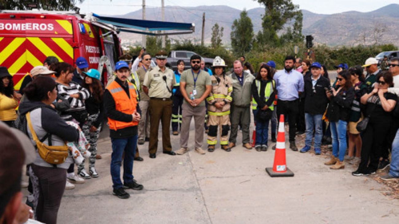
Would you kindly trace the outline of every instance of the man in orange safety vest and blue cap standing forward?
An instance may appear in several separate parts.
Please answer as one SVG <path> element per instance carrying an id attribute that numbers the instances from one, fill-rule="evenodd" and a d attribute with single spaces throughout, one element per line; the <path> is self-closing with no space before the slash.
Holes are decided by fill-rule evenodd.
<path id="1" fill-rule="evenodd" d="M 126 199 L 130 195 L 125 188 L 142 190 L 143 185 L 133 178 L 133 159 L 137 147 L 137 125 L 140 120 L 140 108 L 137 104 L 134 85 L 128 82 L 130 69 L 125 61 L 115 64 L 117 77 L 104 92 L 104 105 L 107 111 L 109 132 L 112 143 L 111 177 L 113 194 Z M 123 184 L 120 181 L 120 166 L 123 159 Z"/>

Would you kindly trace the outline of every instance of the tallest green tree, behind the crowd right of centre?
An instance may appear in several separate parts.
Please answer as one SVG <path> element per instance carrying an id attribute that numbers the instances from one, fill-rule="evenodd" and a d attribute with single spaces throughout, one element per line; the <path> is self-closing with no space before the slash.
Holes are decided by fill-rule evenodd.
<path id="1" fill-rule="evenodd" d="M 262 18 L 262 31 L 257 35 L 260 45 L 278 46 L 281 43 L 303 41 L 302 12 L 292 0 L 257 0 L 265 6 L 265 15 Z M 289 22 L 294 20 L 292 28 L 288 27 L 285 35 L 277 35 Z"/>

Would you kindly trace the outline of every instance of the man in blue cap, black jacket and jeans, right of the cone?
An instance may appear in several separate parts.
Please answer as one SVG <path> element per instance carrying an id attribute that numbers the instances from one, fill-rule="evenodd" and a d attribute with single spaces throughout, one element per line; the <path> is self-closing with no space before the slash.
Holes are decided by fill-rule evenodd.
<path id="1" fill-rule="evenodd" d="M 313 130 L 314 134 L 314 153 L 320 155 L 320 145 L 323 137 L 322 118 L 328 104 L 326 89 L 330 90 L 330 80 L 321 75 L 322 66 L 318 62 L 310 65 L 311 77 L 304 80 L 305 96 L 305 125 L 306 139 L 305 147 L 300 152 L 304 153 L 310 150 L 312 145 Z"/>

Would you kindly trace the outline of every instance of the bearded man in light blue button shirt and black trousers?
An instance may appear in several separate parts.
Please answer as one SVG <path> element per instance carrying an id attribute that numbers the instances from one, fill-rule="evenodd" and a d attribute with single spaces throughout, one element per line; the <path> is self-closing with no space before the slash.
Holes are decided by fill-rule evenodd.
<path id="1" fill-rule="evenodd" d="M 304 90 L 302 74 L 293 70 L 295 58 L 287 56 L 284 61 L 284 70 L 277 72 L 273 79 L 276 81 L 277 117 L 281 114 L 288 116 L 290 149 L 298 151 L 295 145 L 295 118 L 299 109 L 299 94 Z M 275 149 L 276 146 L 273 146 Z"/>

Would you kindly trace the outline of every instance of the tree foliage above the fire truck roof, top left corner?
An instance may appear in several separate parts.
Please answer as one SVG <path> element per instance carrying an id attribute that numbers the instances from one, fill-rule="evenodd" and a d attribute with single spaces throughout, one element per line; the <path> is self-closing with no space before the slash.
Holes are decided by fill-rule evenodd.
<path id="1" fill-rule="evenodd" d="M 76 3 L 84 0 L 0 0 L 2 10 L 26 10 L 28 3 L 37 2 L 42 10 L 75 10 Z"/>

